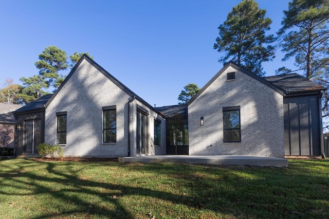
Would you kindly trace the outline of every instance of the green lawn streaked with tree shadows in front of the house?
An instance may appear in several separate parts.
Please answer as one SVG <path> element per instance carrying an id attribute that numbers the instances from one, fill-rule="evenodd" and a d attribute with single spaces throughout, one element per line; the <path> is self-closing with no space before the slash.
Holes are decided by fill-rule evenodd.
<path id="1" fill-rule="evenodd" d="M 2 186 L 3 188 L 11 187 L 14 192 L 6 193 L 5 190 L 0 189 L 0 193 L 21 196 L 46 195 L 62 203 L 57 204 L 54 201 L 54 204 L 59 206 L 57 209 L 49 206 L 51 209 L 49 211 L 47 206 L 40 206 L 46 210 L 38 216 L 30 217 L 35 219 L 71 215 L 106 218 L 136 218 L 143 215 L 147 218 L 150 217 L 148 215 L 150 211 L 164 209 L 168 202 L 175 206 L 186 206 L 194 212 L 210 210 L 214 212 L 214 215 L 233 217 L 321 217 L 328 215 L 322 212 L 321 207 L 315 203 L 320 199 L 328 203 L 329 192 L 326 191 L 317 197 L 310 194 L 305 194 L 305 196 L 298 194 L 303 192 L 303 189 L 308 189 L 307 185 L 303 188 L 304 185 L 298 185 L 298 183 L 301 184 L 300 180 L 309 176 L 299 173 L 296 177 L 290 177 L 287 169 L 208 168 L 168 163 L 143 165 L 140 163 L 24 161 L 17 162 L 18 165 L 14 168 L 5 167 L 3 164 L 4 168 L 11 168 L 12 171 L 0 171 Z M 41 170 L 34 171 L 38 168 Z M 102 179 L 104 176 L 101 173 L 93 172 L 96 168 L 103 168 L 103 171 L 111 173 L 120 168 L 126 172 L 127 177 L 135 174 L 135 177 L 128 179 L 135 181 L 110 181 L 111 177 Z M 89 170 L 91 172 L 88 172 Z M 90 173 L 94 175 L 88 175 Z M 157 183 L 161 177 L 166 178 L 161 183 L 167 185 Z M 4 179 L 6 183 L 3 184 Z M 125 179 L 122 178 L 122 180 Z M 145 186 L 149 185 L 144 184 L 148 180 L 154 180 L 152 188 Z M 289 180 L 290 182 L 286 184 Z M 315 183 L 323 180 L 323 177 L 313 177 Z M 169 189 L 166 189 L 166 186 Z M 299 188 L 302 189 L 299 190 Z M 129 201 L 130 197 L 133 197 L 132 202 Z M 155 203 L 152 203 L 154 201 Z M 301 201 L 305 203 L 298 204 Z M 4 203 L 3 200 L 2 203 Z M 52 205 L 48 200 L 44 203 Z M 62 206 L 63 204 L 67 207 Z M 310 207 L 301 208 L 305 206 Z M 177 211 L 177 209 L 168 209 L 167 212 L 168 215 L 177 215 L 170 214 L 170 211 Z"/>

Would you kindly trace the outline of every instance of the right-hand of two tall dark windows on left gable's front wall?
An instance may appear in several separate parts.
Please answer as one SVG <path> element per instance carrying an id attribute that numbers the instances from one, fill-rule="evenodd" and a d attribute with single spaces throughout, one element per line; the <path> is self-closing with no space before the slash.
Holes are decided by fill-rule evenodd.
<path id="1" fill-rule="evenodd" d="M 117 142 L 117 112 L 115 106 L 103 107 L 103 143 Z"/>

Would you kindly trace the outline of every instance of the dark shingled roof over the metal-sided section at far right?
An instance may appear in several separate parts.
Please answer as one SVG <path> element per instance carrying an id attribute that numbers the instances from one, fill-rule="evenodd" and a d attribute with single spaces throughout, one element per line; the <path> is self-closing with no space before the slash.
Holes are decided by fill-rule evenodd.
<path id="1" fill-rule="evenodd" d="M 326 90 L 325 87 L 304 78 L 296 73 L 288 75 L 277 75 L 265 77 L 265 80 L 284 89 L 287 94 L 296 92 L 312 92 L 316 90 Z"/>

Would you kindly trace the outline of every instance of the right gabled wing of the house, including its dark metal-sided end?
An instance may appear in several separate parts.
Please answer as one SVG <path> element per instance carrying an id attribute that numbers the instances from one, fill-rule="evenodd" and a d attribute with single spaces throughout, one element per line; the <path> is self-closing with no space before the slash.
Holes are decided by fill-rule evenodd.
<path id="1" fill-rule="evenodd" d="M 311 101 L 324 89 L 297 74 L 261 78 L 229 62 L 188 102 L 189 154 L 320 155 L 321 103 Z"/>

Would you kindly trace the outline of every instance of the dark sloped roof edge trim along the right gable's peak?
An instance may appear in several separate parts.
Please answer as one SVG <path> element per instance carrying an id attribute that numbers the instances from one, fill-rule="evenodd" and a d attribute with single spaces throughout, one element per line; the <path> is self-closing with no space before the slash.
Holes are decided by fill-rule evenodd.
<path id="1" fill-rule="evenodd" d="M 205 86 L 203 86 L 194 97 L 191 98 L 191 100 L 187 103 L 188 105 L 190 105 L 198 96 L 200 96 L 218 77 L 220 77 L 220 75 L 223 74 L 223 72 L 228 68 L 232 66 L 233 68 L 235 68 L 238 71 L 241 71 L 242 73 L 248 75 L 249 77 L 265 84 L 266 86 L 272 88 L 273 90 L 275 90 L 276 92 L 278 92 L 281 95 L 285 95 L 285 90 L 282 89 L 281 87 L 276 86 L 275 84 L 272 84 L 271 82 L 265 80 L 264 78 L 252 73 L 251 71 L 247 70 L 246 68 L 242 67 L 241 65 L 236 64 L 233 61 L 229 61 L 227 64 L 224 65 L 224 67 L 217 72 L 217 74 L 212 77 L 212 79 L 210 79 L 210 81 L 208 81 L 208 83 L 206 83 Z"/>

